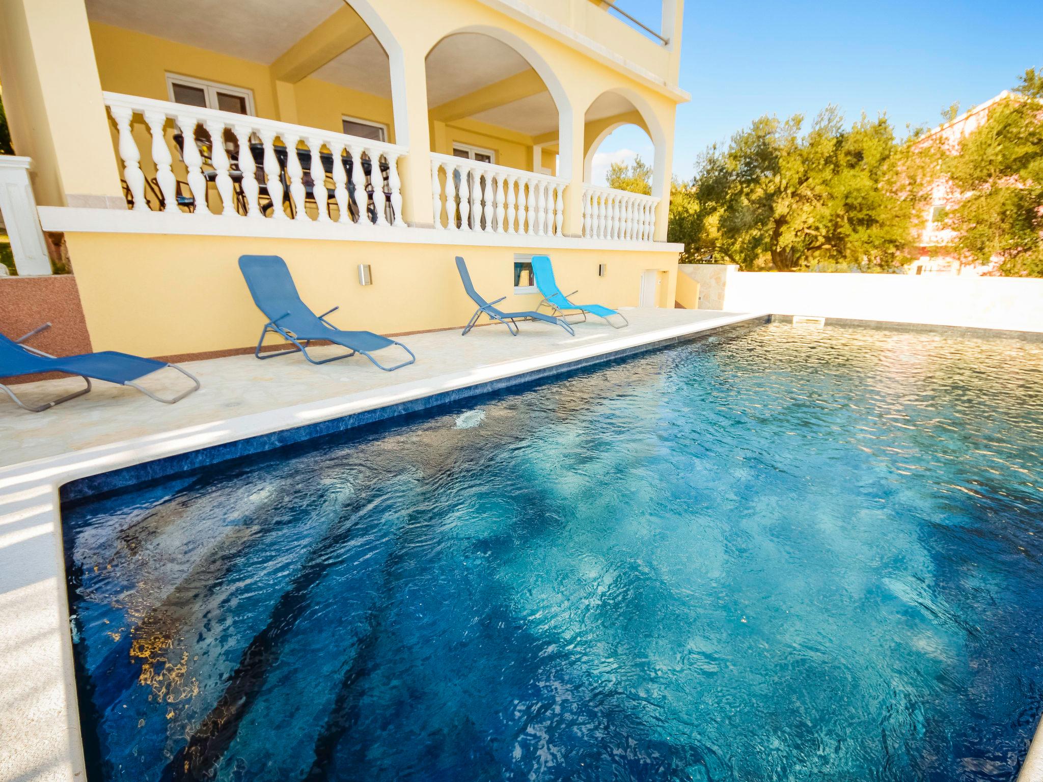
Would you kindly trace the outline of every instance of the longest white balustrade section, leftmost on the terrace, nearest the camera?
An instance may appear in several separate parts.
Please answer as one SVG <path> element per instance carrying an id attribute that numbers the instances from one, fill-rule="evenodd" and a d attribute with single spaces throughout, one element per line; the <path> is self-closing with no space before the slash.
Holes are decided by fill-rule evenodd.
<path id="1" fill-rule="evenodd" d="M 119 131 L 123 179 L 135 211 L 162 210 L 186 219 L 292 214 L 300 221 L 361 227 L 405 225 L 397 171 L 404 147 L 134 95 L 103 97 Z M 139 129 L 151 138 L 145 170 Z M 145 171 L 151 169 L 155 174 L 149 179 Z"/>

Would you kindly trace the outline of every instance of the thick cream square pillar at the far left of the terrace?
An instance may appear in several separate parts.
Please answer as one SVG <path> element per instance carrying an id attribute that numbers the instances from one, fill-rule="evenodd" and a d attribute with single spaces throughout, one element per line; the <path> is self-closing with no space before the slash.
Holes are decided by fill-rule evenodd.
<path id="1" fill-rule="evenodd" d="M 0 83 L 39 203 L 126 209 L 83 0 L 0 1 Z"/>

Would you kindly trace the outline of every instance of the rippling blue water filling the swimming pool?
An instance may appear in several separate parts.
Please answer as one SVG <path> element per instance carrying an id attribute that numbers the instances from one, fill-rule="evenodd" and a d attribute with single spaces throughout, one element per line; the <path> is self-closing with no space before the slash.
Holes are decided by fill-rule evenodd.
<path id="1" fill-rule="evenodd" d="M 1011 780 L 1043 711 L 1043 343 L 772 323 L 64 519 L 95 781 Z"/>

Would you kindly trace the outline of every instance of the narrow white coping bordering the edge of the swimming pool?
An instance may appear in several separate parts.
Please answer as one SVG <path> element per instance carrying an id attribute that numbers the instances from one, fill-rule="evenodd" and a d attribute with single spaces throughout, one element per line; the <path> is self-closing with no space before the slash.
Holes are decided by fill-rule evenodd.
<path id="1" fill-rule="evenodd" d="M 114 469 L 569 365 L 745 321 L 725 315 L 0 468 L 0 780 L 83 782 L 59 487 Z M 1019 782 L 1043 782 L 1043 728 Z M 146 781 L 142 781 L 146 782 Z"/>

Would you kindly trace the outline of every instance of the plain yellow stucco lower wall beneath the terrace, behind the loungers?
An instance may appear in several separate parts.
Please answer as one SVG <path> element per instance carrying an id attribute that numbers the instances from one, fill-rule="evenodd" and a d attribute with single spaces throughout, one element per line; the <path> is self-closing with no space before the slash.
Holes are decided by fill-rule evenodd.
<path id="1" fill-rule="evenodd" d="M 343 328 L 398 334 L 462 326 L 475 306 L 460 284 L 457 254 L 488 299 L 508 296 L 504 309 L 539 302 L 535 294 L 512 294 L 514 253 L 531 248 L 116 234 L 68 234 L 66 241 L 95 350 L 174 356 L 254 344 L 265 318 L 237 264 L 249 253 L 282 255 L 305 302 L 316 312 L 340 306 L 331 321 Z M 550 254 L 559 286 L 579 289 L 586 302 L 636 306 L 647 269 L 666 275 L 662 298 L 673 301 L 673 253 Z M 604 277 L 599 263 L 608 264 Z M 371 286 L 359 285 L 359 264 L 371 266 Z"/>

